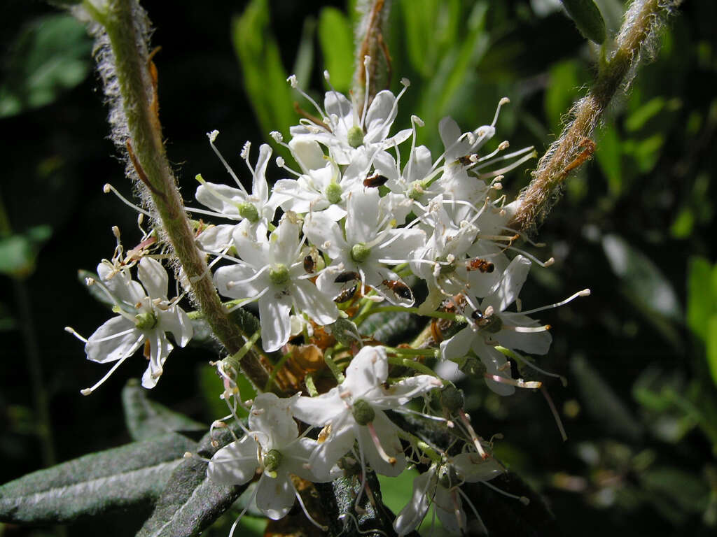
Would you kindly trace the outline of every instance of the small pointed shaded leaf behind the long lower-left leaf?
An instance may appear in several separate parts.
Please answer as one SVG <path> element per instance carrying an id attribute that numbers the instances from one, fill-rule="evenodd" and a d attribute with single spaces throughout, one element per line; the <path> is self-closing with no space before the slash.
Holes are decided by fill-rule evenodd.
<path id="1" fill-rule="evenodd" d="M 130 379 L 123 388 L 122 405 L 127 430 L 133 440 L 146 440 L 174 431 L 206 430 L 206 425 L 149 400 L 147 390 L 137 379 Z"/>

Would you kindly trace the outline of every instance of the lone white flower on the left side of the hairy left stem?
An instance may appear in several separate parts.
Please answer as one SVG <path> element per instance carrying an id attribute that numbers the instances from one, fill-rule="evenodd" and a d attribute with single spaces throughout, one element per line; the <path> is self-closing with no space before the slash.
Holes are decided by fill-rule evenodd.
<path id="1" fill-rule="evenodd" d="M 164 361 L 172 349 L 165 332 L 171 332 L 174 340 L 184 347 L 192 336 L 189 317 L 167 299 L 168 277 L 158 261 L 143 257 L 138 264 L 138 276 L 142 285 L 130 278 L 128 269 L 116 269 L 111 263 L 98 265 L 97 284 L 104 287 L 115 301 L 118 316 L 100 326 L 87 339 L 85 352 L 93 362 L 105 364 L 118 362 L 98 384 L 82 390 L 88 395 L 115 371 L 140 347 L 145 348 L 149 360 L 142 385 L 152 388 L 162 374 Z M 143 289 L 144 287 L 144 289 Z"/>

